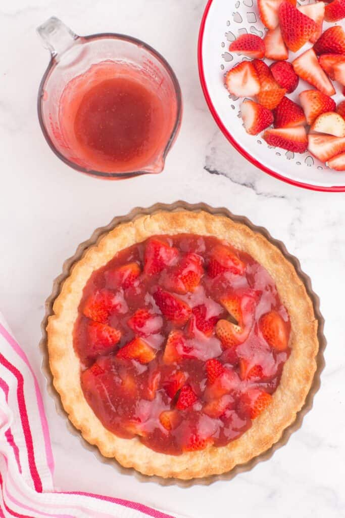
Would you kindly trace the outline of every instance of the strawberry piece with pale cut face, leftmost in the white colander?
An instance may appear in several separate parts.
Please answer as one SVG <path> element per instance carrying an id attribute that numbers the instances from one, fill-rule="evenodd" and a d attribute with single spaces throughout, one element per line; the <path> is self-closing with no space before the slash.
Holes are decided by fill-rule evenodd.
<path id="1" fill-rule="evenodd" d="M 238 63 L 226 75 L 225 84 L 229 93 L 236 97 L 252 97 L 260 91 L 255 68 L 248 61 Z"/>

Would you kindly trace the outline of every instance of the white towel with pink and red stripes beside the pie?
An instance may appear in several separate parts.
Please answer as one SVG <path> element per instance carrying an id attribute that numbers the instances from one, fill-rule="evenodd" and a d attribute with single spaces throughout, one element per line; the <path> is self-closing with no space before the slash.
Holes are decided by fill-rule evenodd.
<path id="1" fill-rule="evenodd" d="M 35 373 L 0 313 L 0 517 L 173 518 L 128 500 L 54 491 L 53 471 Z"/>

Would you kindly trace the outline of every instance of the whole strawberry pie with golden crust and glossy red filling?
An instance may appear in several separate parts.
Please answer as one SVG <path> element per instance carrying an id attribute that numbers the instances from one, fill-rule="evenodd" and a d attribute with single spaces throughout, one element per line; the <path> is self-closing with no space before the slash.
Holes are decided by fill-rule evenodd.
<path id="1" fill-rule="evenodd" d="M 206 212 L 158 212 L 89 248 L 49 318 L 54 385 L 106 457 L 190 479 L 269 449 L 310 389 L 317 321 L 292 264 Z"/>

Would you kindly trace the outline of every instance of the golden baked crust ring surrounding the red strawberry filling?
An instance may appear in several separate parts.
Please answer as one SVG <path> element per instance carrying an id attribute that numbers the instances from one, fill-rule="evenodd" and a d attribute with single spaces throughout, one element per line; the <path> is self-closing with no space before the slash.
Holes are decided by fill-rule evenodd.
<path id="1" fill-rule="evenodd" d="M 84 398 L 80 384 L 80 360 L 73 349 L 73 326 L 83 288 L 92 274 L 124 248 L 157 234 L 193 233 L 228 240 L 249 253 L 274 279 L 280 299 L 291 320 L 291 354 L 269 408 L 241 437 L 224 447 L 166 455 L 157 453 L 137 438 L 122 439 L 98 420 Z M 54 314 L 47 326 L 50 369 L 55 389 L 73 425 L 102 455 L 115 457 L 124 467 L 147 475 L 188 480 L 220 474 L 244 464 L 271 448 L 304 405 L 316 371 L 319 349 L 318 322 L 305 286 L 292 264 L 261 234 L 223 215 L 179 210 L 159 211 L 123 223 L 104 235 L 73 265 L 69 277 L 55 299 Z"/>

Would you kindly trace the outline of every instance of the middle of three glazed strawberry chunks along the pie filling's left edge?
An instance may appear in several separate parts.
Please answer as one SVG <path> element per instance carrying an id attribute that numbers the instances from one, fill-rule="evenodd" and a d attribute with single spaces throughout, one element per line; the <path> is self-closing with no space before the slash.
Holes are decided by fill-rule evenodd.
<path id="1" fill-rule="evenodd" d="M 88 322 L 87 324 L 89 357 L 100 354 L 108 354 L 115 350 L 116 344 L 121 339 L 121 331 L 101 322 Z"/>

